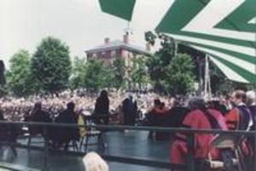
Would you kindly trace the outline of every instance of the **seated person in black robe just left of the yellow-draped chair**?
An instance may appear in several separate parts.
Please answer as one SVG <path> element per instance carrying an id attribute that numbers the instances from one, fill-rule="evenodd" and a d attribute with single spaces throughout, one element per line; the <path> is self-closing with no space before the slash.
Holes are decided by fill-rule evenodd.
<path id="1" fill-rule="evenodd" d="M 67 109 L 61 111 L 60 115 L 56 117 L 56 123 L 78 123 L 78 116 L 74 111 L 74 103 L 69 102 Z M 79 128 L 57 128 L 57 134 L 55 134 L 55 146 L 61 147 L 64 145 L 67 150 L 68 144 L 71 140 L 79 140 Z"/>

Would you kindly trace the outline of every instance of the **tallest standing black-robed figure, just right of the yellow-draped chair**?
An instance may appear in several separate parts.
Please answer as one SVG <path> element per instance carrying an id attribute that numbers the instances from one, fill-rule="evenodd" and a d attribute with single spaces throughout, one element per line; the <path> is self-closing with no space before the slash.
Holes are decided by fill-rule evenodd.
<path id="1" fill-rule="evenodd" d="M 97 124 L 108 124 L 109 122 L 109 100 L 108 92 L 103 90 L 100 97 L 96 100 L 95 110 L 93 113 L 95 117 L 95 123 Z"/>

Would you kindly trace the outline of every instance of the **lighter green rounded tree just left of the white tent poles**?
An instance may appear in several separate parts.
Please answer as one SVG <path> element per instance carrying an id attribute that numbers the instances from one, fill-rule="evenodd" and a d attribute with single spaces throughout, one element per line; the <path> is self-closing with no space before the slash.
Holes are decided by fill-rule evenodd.
<path id="1" fill-rule="evenodd" d="M 177 54 L 166 68 L 166 79 L 163 81 L 169 94 L 186 94 L 194 88 L 195 64 L 188 54 Z"/>

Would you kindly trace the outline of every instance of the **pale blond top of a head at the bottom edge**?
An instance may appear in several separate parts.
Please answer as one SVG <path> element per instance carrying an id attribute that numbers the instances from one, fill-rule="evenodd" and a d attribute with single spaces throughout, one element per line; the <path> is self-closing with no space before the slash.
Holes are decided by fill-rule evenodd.
<path id="1" fill-rule="evenodd" d="M 84 158 L 86 171 L 108 171 L 108 164 L 96 152 L 88 153 Z"/>

